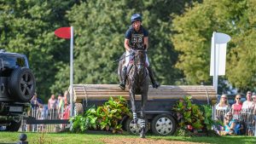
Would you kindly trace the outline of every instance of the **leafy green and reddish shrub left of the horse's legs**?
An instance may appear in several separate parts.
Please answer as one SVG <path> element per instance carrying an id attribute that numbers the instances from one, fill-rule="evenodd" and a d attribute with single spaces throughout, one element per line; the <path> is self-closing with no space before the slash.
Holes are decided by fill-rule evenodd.
<path id="1" fill-rule="evenodd" d="M 91 107 L 84 115 L 78 115 L 70 120 L 73 122 L 74 132 L 84 132 L 85 130 L 112 130 L 113 133 L 122 132 L 120 120 L 125 116 L 131 116 L 127 101 L 119 96 L 112 97 L 103 106 Z"/>

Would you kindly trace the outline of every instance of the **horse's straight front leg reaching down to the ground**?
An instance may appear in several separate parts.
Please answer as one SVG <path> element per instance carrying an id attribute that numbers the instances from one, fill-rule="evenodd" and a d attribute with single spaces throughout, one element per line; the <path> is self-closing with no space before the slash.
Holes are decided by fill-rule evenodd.
<path id="1" fill-rule="evenodd" d="M 148 101 L 148 93 L 143 93 L 142 94 L 142 111 L 141 111 L 141 117 L 142 117 L 142 121 L 141 121 L 141 138 L 145 138 L 145 134 L 146 134 L 146 114 L 145 114 L 145 107 L 146 107 L 146 103 Z"/>

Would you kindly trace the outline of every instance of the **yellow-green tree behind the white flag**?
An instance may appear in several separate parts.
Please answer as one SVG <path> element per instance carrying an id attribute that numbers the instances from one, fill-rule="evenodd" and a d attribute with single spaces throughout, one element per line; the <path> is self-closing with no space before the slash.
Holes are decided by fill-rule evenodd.
<path id="1" fill-rule="evenodd" d="M 175 16 L 172 42 L 179 52 L 176 66 L 184 72 L 189 84 L 212 83 L 210 49 L 215 31 L 231 36 L 224 79 L 238 89 L 253 89 L 256 82 L 255 10 L 253 0 L 205 0 Z"/>

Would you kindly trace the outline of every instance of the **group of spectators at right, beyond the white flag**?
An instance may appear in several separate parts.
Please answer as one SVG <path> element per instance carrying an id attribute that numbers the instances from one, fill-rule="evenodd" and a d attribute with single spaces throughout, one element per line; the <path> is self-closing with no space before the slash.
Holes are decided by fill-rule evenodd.
<path id="1" fill-rule="evenodd" d="M 216 118 L 222 120 L 224 127 L 220 127 L 220 135 L 253 135 L 255 129 L 256 95 L 247 91 L 247 101 L 241 101 L 241 95 L 235 96 L 235 103 L 230 106 L 227 95 L 221 95 L 216 105 Z"/>

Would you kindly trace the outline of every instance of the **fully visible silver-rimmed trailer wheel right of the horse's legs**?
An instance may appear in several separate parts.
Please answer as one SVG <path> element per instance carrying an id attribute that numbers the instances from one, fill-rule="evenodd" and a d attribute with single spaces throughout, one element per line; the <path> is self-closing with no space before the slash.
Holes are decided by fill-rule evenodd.
<path id="1" fill-rule="evenodd" d="M 168 114 L 160 114 L 153 118 L 151 130 L 155 135 L 172 135 L 176 130 L 176 121 Z"/>

